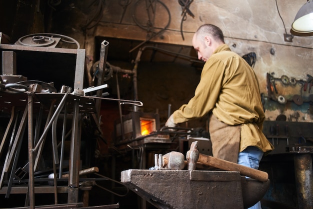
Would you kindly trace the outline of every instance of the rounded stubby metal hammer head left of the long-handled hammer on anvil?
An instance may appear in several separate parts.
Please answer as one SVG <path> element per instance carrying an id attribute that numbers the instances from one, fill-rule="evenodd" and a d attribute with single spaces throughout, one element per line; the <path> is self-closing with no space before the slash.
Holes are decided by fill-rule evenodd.
<path id="1" fill-rule="evenodd" d="M 178 151 L 171 151 L 162 156 L 162 167 L 170 170 L 182 170 L 185 166 L 184 155 Z"/>

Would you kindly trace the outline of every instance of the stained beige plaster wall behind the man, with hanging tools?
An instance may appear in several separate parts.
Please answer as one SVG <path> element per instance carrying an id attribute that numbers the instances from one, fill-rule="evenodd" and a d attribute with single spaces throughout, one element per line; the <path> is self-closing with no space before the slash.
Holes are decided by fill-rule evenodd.
<path id="1" fill-rule="evenodd" d="M 133 16 L 140 24 L 145 24 L 147 14 L 142 2 L 130 2 L 123 10 L 117 1 L 106 1 L 103 16 L 97 25 L 87 30 L 87 36 L 106 36 L 126 38 L 160 43 L 170 43 L 191 46 L 194 31 L 203 23 L 212 23 L 219 26 L 224 32 L 225 42 L 231 50 L 239 55 L 249 52 L 256 53 L 256 63 L 253 67 L 259 78 L 260 91 L 264 96 L 265 114 L 267 119 L 274 120 L 278 114 L 285 114 L 289 121 L 311 121 L 308 90 L 303 91 L 303 82 L 296 85 L 281 84 L 279 78 L 286 75 L 289 78 L 306 81 L 307 74 L 313 74 L 312 37 L 294 36 L 292 42 L 284 40 L 284 33 L 290 35 L 291 23 L 298 9 L 305 0 L 196 0 L 189 9 L 194 17 L 186 15 L 180 31 L 182 7 L 174 0 L 157 2 L 155 7 L 154 27 L 151 28 L 157 35 L 150 38 L 147 30 L 138 27 Z M 168 27 L 162 30 L 169 19 Z M 135 9 L 135 10 L 134 10 Z M 124 15 L 122 14 L 124 11 Z M 122 17 L 123 15 L 123 17 Z M 161 31 L 162 30 L 162 31 Z M 161 31 L 161 32 L 159 32 Z M 158 33 L 159 32 L 159 33 Z M 87 53 L 92 53 L 92 41 L 86 39 Z M 277 93 L 268 97 L 268 82 L 266 74 L 274 78 Z M 294 104 L 292 96 L 301 95 L 304 103 Z M 283 95 L 286 104 L 274 101 L 277 95 Z M 306 102 L 305 102 L 306 101 Z"/>

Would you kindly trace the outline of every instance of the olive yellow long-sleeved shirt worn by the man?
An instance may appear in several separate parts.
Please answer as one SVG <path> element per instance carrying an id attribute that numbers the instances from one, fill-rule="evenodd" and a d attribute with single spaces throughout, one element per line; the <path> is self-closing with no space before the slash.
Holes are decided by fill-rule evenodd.
<path id="1" fill-rule="evenodd" d="M 256 146 L 273 149 L 262 133 L 265 118 L 257 77 L 253 69 L 228 45 L 218 46 L 205 62 L 194 96 L 173 112 L 175 123 L 212 112 L 228 125 L 241 124 L 239 151 Z"/>

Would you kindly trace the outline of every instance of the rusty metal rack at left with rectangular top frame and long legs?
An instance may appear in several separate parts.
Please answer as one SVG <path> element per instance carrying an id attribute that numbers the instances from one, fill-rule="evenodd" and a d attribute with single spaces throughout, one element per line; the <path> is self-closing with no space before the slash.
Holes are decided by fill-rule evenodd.
<path id="1" fill-rule="evenodd" d="M 69 49 L 69 48 L 51 48 L 51 47 L 37 47 L 37 46 L 24 46 L 24 45 L 10 45 L 10 44 L 0 44 L 0 51 L 5 56 L 13 56 L 11 60 L 18 60 L 20 56 L 18 53 L 22 52 L 35 52 L 44 54 L 72 54 L 76 57 L 74 63 L 74 80 L 72 83 L 72 87 L 74 89 L 82 89 L 83 88 L 83 75 L 84 75 L 84 62 L 85 62 L 85 49 Z M 12 51 L 12 53 L 7 53 L 6 51 Z M 16 55 L 16 54 L 17 55 Z M 71 55 L 71 56 L 72 56 Z M 16 56 L 16 57 L 15 57 Z M 7 63 L 4 59 L 2 59 L 2 66 L 5 68 L 5 64 Z M 16 69 L 16 68 L 15 68 Z M 18 73 L 18 70 L 17 70 Z M 44 73 L 44 72 L 43 72 Z M 56 72 L 57 73 L 57 72 Z M 18 159 L 18 153 L 21 146 L 21 138 L 22 132 L 26 124 L 28 124 L 28 188 L 26 189 L 26 198 L 29 198 L 29 207 L 35 207 L 34 201 L 34 176 L 33 172 L 37 166 L 38 158 L 41 155 L 43 143 L 45 140 L 45 135 L 47 130 L 49 130 L 53 126 L 53 122 L 57 120 L 60 112 L 72 113 L 72 126 L 71 126 L 71 139 L 70 139 L 70 156 L 69 156 L 69 177 L 68 177 L 68 203 L 74 203 L 78 201 L 78 189 L 79 189 L 79 151 L 80 151 L 80 113 L 95 113 L 95 104 L 93 98 L 87 98 L 85 96 L 67 94 L 67 93 L 34 93 L 34 92 L 8 92 L 2 91 L 0 92 L 1 102 L 0 102 L 0 110 L 3 113 L 11 112 L 11 117 L 15 117 L 16 110 L 23 110 L 23 116 L 21 117 L 20 125 L 17 128 L 17 136 L 12 140 L 13 142 L 11 146 L 13 147 L 10 150 L 7 150 L 7 158 L 10 159 L 8 162 L 5 161 L 6 166 L 3 167 L 3 171 L 1 172 L 1 184 L 3 180 L 4 172 L 8 172 L 9 167 L 11 166 L 11 174 L 10 180 L 7 188 L 1 188 L 0 193 L 3 193 L 5 190 L 6 195 L 9 195 L 11 191 L 12 180 L 14 176 L 14 170 L 16 169 L 16 161 Z M 34 121 L 34 111 L 40 111 L 38 109 L 42 107 L 50 107 L 47 113 L 47 120 L 45 128 L 40 137 L 40 134 L 37 131 L 37 128 L 34 129 L 33 121 Z M 4 137 L 8 138 L 9 133 L 13 129 L 13 122 L 10 120 Z M 54 126 L 52 127 L 52 129 Z M 16 128 L 14 128 L 15 130 Z M 0 152 L 3 151 L 3 144 L 6 138 L 2 139 Z M 62 138 L 63 140 L 64 138 Z M 56 139 L 52 137 L 53 146 L 53 171 L 54 171 L 54 197 L 55 203 L 57 203 L 57 195 L 56 193 L 59 191 L 59 187 L 56 185 L 56 168 L 55 163 L 59 163 L 59 158 L 57 155 L 57 149 L 55 147 Z M 56 154 L 55 154 L 56 153 Z M 14 161 L 12 161 L 14 158 Z M 62 159 L 61 159 L 62 160 Z M 2 190 L 2 191 L 1 191 Z M 40 189 L 36 189 L 40 192 Z M 25 201 L 26 202 L 26 201 Z"/>

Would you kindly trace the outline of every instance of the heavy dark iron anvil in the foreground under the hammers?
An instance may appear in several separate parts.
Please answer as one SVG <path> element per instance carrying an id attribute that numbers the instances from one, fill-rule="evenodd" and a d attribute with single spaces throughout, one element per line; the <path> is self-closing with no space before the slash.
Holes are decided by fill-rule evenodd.
<path id="1" fill-rule="evenodd" d="M 121 182 L 155 207 L 177 209 L 242 209 L 246 207 L 242 197 L 242 185 L 246 183 L 242 184 L 242 178 L 236 171 L 128 169 L 121 172 Z M 262 186 L 256 187 L 250 195 Z M 266 190 L 262 189 L 260 197 L 245 198 L 255 203 Z"/>

